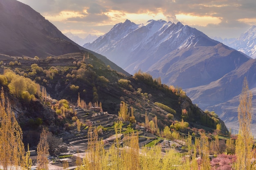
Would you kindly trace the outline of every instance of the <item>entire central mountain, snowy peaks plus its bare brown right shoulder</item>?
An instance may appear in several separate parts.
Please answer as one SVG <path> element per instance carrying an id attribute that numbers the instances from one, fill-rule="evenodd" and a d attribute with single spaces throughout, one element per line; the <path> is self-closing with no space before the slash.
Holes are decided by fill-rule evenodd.
<path id="1" fill-rule="evenodd" d="M 149 20 L 135 24 L 126 20 L 84 47 L 105 55 L 128 73 L 141 69 L 161 77 L 165 84 L 191 88 L 217 80 L 249 60 L 219 44 L 180 22 Z M 222 60 L 216 60 L 220 57 Z"/>

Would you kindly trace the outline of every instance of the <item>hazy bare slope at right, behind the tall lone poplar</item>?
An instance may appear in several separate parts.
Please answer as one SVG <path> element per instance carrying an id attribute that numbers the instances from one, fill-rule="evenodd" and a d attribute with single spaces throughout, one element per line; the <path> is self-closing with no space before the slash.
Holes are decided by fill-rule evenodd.
<path id="1" fill-rule="evenodd" d="M 204 86 L 186 89 L 192 101 L 200 107 L 214 110 L 221 119 L 234 129 L 238 129 L 237 109 L 244 77 L 253 93 L 253 106 L 256 104 L 256 59 L 250 59 L 239 68 L 222 78 Z M 256 115 L 253 116 L 253 133 L 256 134 Z"/>

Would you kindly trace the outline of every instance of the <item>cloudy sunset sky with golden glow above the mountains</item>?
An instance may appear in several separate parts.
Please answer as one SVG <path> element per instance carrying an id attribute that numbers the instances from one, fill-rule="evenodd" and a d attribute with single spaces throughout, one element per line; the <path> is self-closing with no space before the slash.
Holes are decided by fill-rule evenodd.
<path id="1" fill-rule="evenodd" d="M 166 20 L 210 37 L 238 38 L 256 25 L 256 0 L 19 0 L 62 33 L 103 35 L 126 19 L 136 24 Z"/>

